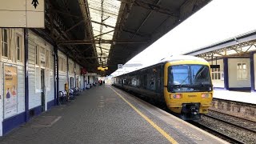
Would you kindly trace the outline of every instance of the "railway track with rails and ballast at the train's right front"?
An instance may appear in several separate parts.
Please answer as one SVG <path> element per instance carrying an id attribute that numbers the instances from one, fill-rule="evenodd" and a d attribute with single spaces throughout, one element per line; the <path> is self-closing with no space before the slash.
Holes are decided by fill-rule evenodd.
<path id="1" fill-rule="evenodd" d="M 230 143 L 254 143 L 256 122 L 210 110 L 202 119 L 190 122 Z"/>

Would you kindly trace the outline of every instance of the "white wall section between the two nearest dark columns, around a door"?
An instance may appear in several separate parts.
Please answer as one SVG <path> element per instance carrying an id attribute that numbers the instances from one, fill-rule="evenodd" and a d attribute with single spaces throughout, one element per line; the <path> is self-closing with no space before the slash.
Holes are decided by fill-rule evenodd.
<path id="1" fill-rule="evenodd" d="M 40 62 L 35 64 L 35 47 L 38 46 L 42 50 L 49 51 L 49 57 L 45 55 L 46 61 L 50 62 L 50 67 L 46 66 L 46 63 Z M 41 106 L 41 69 L 45 71 L 45 86 L 46 86 L 46 103 L 54 99 L 54 57 L 52 51 L 54 47 L 50 43 L 46 42 L 43 38 L 40 38 L 37 34 L 29 30 L 29 109 L 36 106 Z"/>

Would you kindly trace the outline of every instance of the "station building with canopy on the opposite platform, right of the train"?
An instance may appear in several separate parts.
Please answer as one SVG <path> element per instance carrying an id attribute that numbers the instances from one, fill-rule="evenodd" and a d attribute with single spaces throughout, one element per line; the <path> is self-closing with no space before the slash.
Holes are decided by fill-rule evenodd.
<path id="1" fill-rule="evenodd" d="M 186 54 L 205 58 L 211 65 L 214 90 L 235 90 L 254 93 L 256 66 L 256 32 L 250 31 L 223 42 Z"/>

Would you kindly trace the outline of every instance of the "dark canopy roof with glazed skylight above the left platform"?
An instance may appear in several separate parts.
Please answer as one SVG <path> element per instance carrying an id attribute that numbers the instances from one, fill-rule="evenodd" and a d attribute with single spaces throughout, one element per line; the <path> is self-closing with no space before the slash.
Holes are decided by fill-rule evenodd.
<path id="1" fill-rule="evenodd" d="M 89 72 L 109 75 L 210 0 L 46 0 L 46 29 Z M 108 67 L 99 70 L 98 67 Z M 104 70 L 104 71 L 102 71 Z"/>

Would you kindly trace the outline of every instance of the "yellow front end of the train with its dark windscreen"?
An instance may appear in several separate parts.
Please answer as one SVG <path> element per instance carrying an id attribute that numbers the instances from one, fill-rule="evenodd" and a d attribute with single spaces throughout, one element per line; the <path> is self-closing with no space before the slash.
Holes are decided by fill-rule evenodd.
<path id="1" fill-rule="evenodd" d="M 166 62 L 164 67 L 166 106 L 186 120 L 206 114 L 213 98 L 210 65 L 201 58 Z"/>

